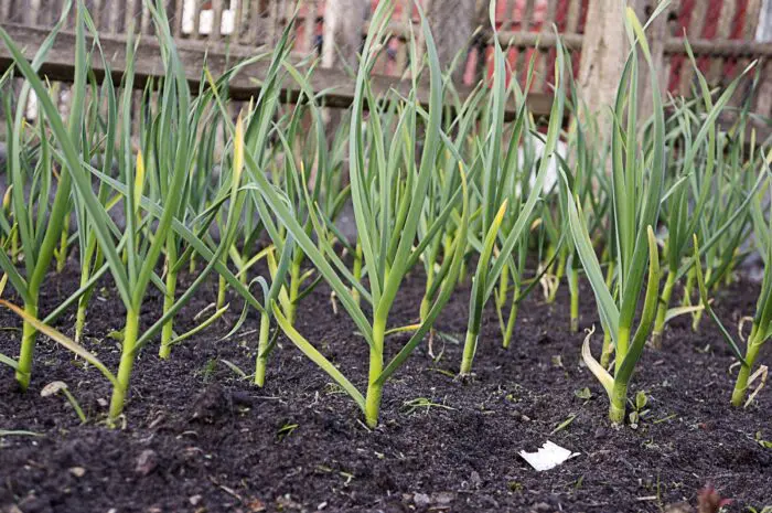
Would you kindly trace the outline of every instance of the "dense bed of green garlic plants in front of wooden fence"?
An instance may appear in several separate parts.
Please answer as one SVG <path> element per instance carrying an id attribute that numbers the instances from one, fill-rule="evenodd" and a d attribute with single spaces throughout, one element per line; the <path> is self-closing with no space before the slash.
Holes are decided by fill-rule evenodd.
<path id="1" fill-rule="evenodd" d="M 578 331 L 581 275 L 603 331 L 600 359 L 590 350 L 591 333 L 581 354 L 609 395 L 613 423 L 624 421 L 628 387 L 646 343 L 661 348 L 675 316 L 693 316 L 697 329 L 709 312 L 741 365 L 732 403 L 746 400 L 758 376 L 759 350 L 772 334 L 771 275 L 764 274 L 744 353 L 721 327 L 709 295 L 733 279 L 750 233 L 764 263 L 772 250 L 763 195 L 770 156 L 752 131 L 746 140 L 747 106 L 729 129 L 719 124 L 752 66 L 725 90 L 712 90 L 687 46 L 698 77 L 694 99 L 665 100 L 657 74 L 648 73 L 653 109 L 641 115 L 640 67 L 653 64 L 644 28 L 631 11 L 624 20 L 631 51 L 616 101 L 603 114 L 609 133 L 583 109 L 570 55 L 559 41 L 554 103 L 542 130 L 527 108 L 533 62 L 521 88 L 507 79 L 512 70 L 505 49 L 495 42 L 491 81 L 462 101 L 443 75 L 420 8 L 426 52 L 419 55 L 412 38 L 411 87 L 376 96 L 371 73 L 385 47 L 393 9 L 380 2 L 358 62 L 347 122 L 330 135 L 323 100 L 311 87 L 314 64 L 299 66 L 289 58 L 289 26 L 271 53 L 239 63 L 222 77 L 196 71 L 202 85 L 192 92 L 191 71 L 180 61 L 162 2 L 147 0 L 147 6 L 165 78 L 146 87 L 138 110 L 132 98 L 137 42 L 127 42 L 120 83 L 110 73 L 96 81 L 89 63 L 110 66 L 83 0 L 65 6 L 31 62 L 0 29 L 15 61 L 0 78 L 0 89 L 14 77 L 24 79 L 15 109 L 10 95 L 3 96 L 9 161 L 0 215 L 2 285 L 9 282 L 22 304 L 2 303 L 23 321 L 18 356 L 0 354 L 0 363 L 13 368 L 22 389 L 33 376 L 35 342 L 43 333 L 112 383 L 108 421 L 114 424 L 124 413 L 139 352 L 157 344 L 161 359 L 173 357 L 175 344 L 210 328 L 230 308 L 228 298 L 237 298 L 243 311 L 228 335 L 250 312 L 259 316 L 257 386 L 265 384 L 270 354 L 283 334 L 375 426 L 384 386 L 419 344 L 430 343 L 460 284 L 471 279 L 459 364 L 463 376 L 473 372 L 483 343 L 486 308 L 495 308 L 507 348 L 516 343 L 519 303 L 539 290 L 544 302 L 554 301 L 565 280 L 569 328 Z M 65 118 L 36 71 L 71 9 L 76 11 L 75 82 Z M 493 8 L 491 23 L 495 26 Z M 87 35 L 93 43 L 87 44 Z M 269 62 L 259 96 L 234 120 L 228 82 L 259 60 Z M 301 92 L 293 106 L 281 103 L 285 83 Z M 428 105 L 419 100 L 423 84 Z M 19 107 L 31 93 L 40 105 L 34 122 Z M 505 122 L 511 105 L 515 116 Z M 138 140 L 131 138 L 136 111 Z M 346 204 L 354 212 L 353 241 L 336 223 Z M 76 226 L 72 233 L 71 224 Z M 68 254 L 77 257 L 79 288 L 42 312 L 45 276 L 54 261 L 61 269 Z M 183 291 L 185 272 L 193 279 Z M 418 322 L 394 325 L 390 312 L 410 272 L 426 277 L 415 306 Z M 108 274 L 126 308 L 115 371 L 83 343 L 89 302 Z M 216 299 L 206 314 L 196 316 L 194 329 L 179 333 L 175 316 L 212 280 Z M 318 341 L 297 330 L 303 298 L 321 282 L 367 344 L 364 387 L 326 357 Z M 163 307 L 152 323 L 142 323 L 140 312 L 152 290 L 161 293 Z M 680 303 L 676 290 L 683 290 Z M 73 338 L 51 328 L 73 310 Z M 397 332 L 410 336 L 388 360 L 386 339 Z"/>

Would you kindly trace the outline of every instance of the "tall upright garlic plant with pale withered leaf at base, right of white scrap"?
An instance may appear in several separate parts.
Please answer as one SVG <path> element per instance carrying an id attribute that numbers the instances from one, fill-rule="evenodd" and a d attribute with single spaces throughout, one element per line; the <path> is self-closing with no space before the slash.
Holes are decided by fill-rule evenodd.
<path id="1" fill-rule="evenodd" d="M 655 15 L 657 13 L 658 11 L 655 12 Z M 628 9 L 626 28 L 631 43 L 633 43 L 633 50 L 628 57 L 618 89 L 613 109 L 616 122 L 612 127 L 613 162 L 611 173 L 614 216 L 613 225 L 610 228 L 615 232 L 619 248 L 616 255 L 619 292 L 616 295 L 607 285 L 588 233 L 587 222 L 578 206 L 578 201 L 570 192 L 571 188 L 566 174 L 562 174 L 564 184 L 569 191 L 567 212 L 571 237 L 594 292 L 603 331 L 611 334 L 615 350 L 613 374 L 609 373 L 592 356 L 590 352 L 591 333 L 585 340 L 582 359 L 609 395 L 609 418 L 614 424 L 624 423 L 628 385 L 648 339 L 656 313 L 660 257 L 652 227 L 656 226 L 658 217 L 665 171 L 665 119 L 654 71 L 651 73 L 654 108 L 653 138 L 648 145 L 639 147 L 636 137 L 637 55 L 635 49 L 637 45 L 641 46 L 652 70 L 653 64 L 643 28 L 630 8 Z M 626 129 L 621 124 L 625 109 Z M 646 180 L 644 180 L 644 175 L 646 175 Z M 644 291 L 643 280 L 646 267 L 648 267 L 648 278 L 643 311 L 637 329 L 633 332 L 636 307 Z"/>

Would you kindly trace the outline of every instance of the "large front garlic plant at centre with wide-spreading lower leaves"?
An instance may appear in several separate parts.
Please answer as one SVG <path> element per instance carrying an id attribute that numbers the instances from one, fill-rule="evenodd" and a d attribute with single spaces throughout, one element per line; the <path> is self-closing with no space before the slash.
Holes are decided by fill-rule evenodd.
<path id="1" fill-rule="evenodd" d="M 259 168 L 251 156 L 248 153 L 246 156 L 250 177 L 256 182 L 266 203 L 333 289 L 337 300 L 351 316 L 367 343 L 369 349 L 369 372 L 366 395 L 363 395 L 332 362 L 305 340 L 289 323 L 281 309 L 276 304 L 274 307 L 274 316 L 285 334 L 351 395 L 363 410 L 368 426 L 376 426 L 378 423 L 380 398 L 386 380 L 401 366 L 409 354 L 421 342 L 440 310 L 450 299 L 450 293 L 458 281 L 463 259 L 467 241 L 465 226 L 469 221 L 468 194 L 465 184 L 462 181 L 462 189 L 453 194 L 452 202 L 449 203 L 446 212 L 443 212 L 444 215 L 435 220 L 432 227 L 430 227 L 431 231 L 439 231 L 440 227 L 446 226 L 447 216 L 453 210 L 457 210 L 459 201 L 462 201 L 462 222 L 453 241 L 452 257 L 443 263 L 448 271 L 443 272 L 444 279 L 440 293 L 429 314 L 412 333 L 410 340 L 390 363 L 384 365 L 385 338 L 388 331 L 389 311 L 396 299 L 399 285 L 408 270 L 418 264 L 426 248 L 426 244 L 414 248 L 414 241 L 427 191 L 435 175 L 437 154 L 441 148 L 440 127 L 442 113 L 441 74 L 437 49 L 429 31 L 428 22 L 419 7 L 430 70 L 429 120 L 425 130 L 426 139 L 420 165 L 416 165 L 415 156 L 416 130 L 418 128 L 416 122 L 418 115 L 416 87 L 414 87 L 401 106 L 400 119 L 397 124 L 397 129 L 394 131 L 394 137 L 390 133 L 386 137 L 387 133 L 383 130 L 379 119 L 380 111 L 377 108 L 378 104 L 372 95 L 369 73 L 375 64 L 380 43 L 384 41 L 392 9 L 392 2 L 379 2 L 373 14 L 371 31 L 365 42 L 356 78 L 349 135 L 351 197 L 362 244 L 363 263 L 367 269 L 367 287 L 364 284 L 356 282 L 352 272 L 345 267 L 340 257 L 334 254 L 330 245 L 322 244 L 322 249 L 317 247 L 317 244 L 298 222 L 291 209 L 291 202 L 288 202 L 286 194 L 277 191 L 265 175 L 259 172 Z M 417 65 L 415 64 L 417 58 L 411 61 L 414 66 Z M 414 74 L 414 79 L 415 76 L 416 74 Z M 362 129 L 365 100 L 371 107 L 367 136 L 372 138 L 373 145 L 369 148 L 365 147 L 365 133 L 363 133 Z M 366 162 L 368 163 L 366 164 Z M 297 173 L 298 171 L 293 170 L 293 172 Z M 462 175 L 465 179 L 463 171 Z M 326 229 L 317 216 L 312 205 L 309 205 L 308 212 L 311 215 L 318 241 L 324 243 L 328 241 Z M 372 304 L 372 321 L 367 320 L 361 306 L 352 298 L 350 293 L 351 287 L 357 288 L 361 301 Z"/>

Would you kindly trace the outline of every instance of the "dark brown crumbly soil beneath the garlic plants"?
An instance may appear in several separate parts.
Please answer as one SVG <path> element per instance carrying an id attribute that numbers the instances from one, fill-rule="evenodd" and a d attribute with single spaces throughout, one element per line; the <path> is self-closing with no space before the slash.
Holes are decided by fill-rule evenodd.
<path id="1" fill-rule="evenodd" d="M 43 311 L 75 288 L 74 275 L 53 276 Z M 412 320 L 421 291 L 420 277 L 411 277 L 392 325 Z M 660 512 L 696 504 L 706 483 L 733 500 L 728 511 L 772 504 L 772 450 L 757 440 L 772 439 L 772 391 L 747 409 L 730 407 L 737 370 L 717 330 L 705 320 L 693 333 L 689 320 L 673 321 L 665 349 L 646 350 L 632 385 L 631 397 L 648 396 L 647 412 L 637 428 L 614 429 L 604 393 L 580 364 L 585 335 L 568 332 L 567 293 L 564 286 L 555 304 L 536 295 L 526 300 L 508 351 L 500 348 L 489 309 L 471 381 L 453 378 L 460 345 L 437 341 L 436 361 L 419 348 L 388 383 L 373 431 L 283 338 L 264 389 L 239 378 L 225 362 L 251 373 L 256 317 L 235 338 L 219 340 L 238 318 L 238 301 L 226 320 L 175 348 L 170 361 L 147 348 L 122 429 L 104 423 L 108 382 L 41 340 L 29 393 L 19 393 L 12 374 L 0 368 L 0 429 L 41 435 L 0 438 L 0 511 Z M 755 285 L 740 282 L 717 296 L 732 332 L 741 316 L 752 314 L 757 293 Z M 468 296 L 468 288 L 459 290 L 438 324 L 459 339 Z M 191 328 L 213 298 L 214 286 L 202 290 L 179 316 L 179 330 Z M 598 317 L 587 288 L 581 299 L 585 329 Z M 158 297 L 148 301 L 146 321 L 160 306 Z M 72 333 L 72 322 L 63 319 L 58 328 Z M 19 324 L 0 312 L 0 352 L 15 355 Z M 111 368 L 118 348 L 108 333 L 121 324 L 122 308 L 106 286 L 93 301 L 85 344 Z M 297 327 L 363 384 L 365 342 L 347 317 L 333 313 L 326 288 L 303 301 Z M 389 351 L 405 341 L 394 336 Z M 772 363 L 769 348 L 761 360 Z M 63 397 L 41 397 L 55 380 L 69 385 L 86 425 Z M 591 398 L 577 396 L 583 387 Z M 419 398 L 435 406 L 410 408 Z M 580 456 L 538 473 L 518 451 L 546 440 Z"/>

